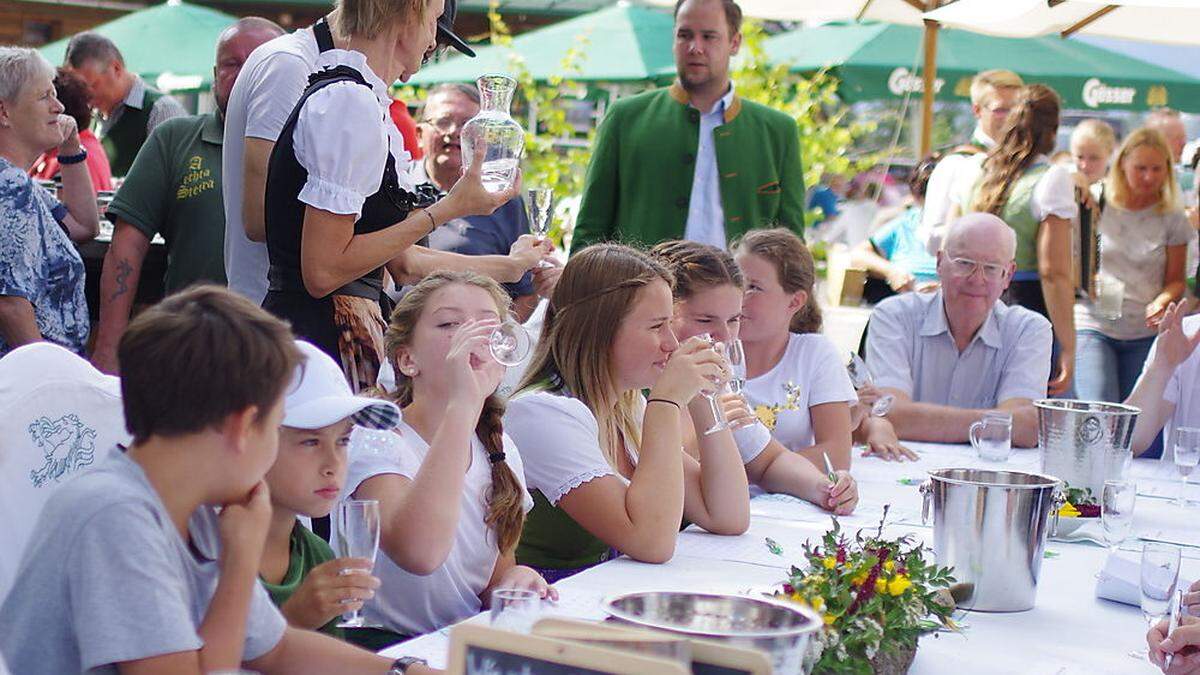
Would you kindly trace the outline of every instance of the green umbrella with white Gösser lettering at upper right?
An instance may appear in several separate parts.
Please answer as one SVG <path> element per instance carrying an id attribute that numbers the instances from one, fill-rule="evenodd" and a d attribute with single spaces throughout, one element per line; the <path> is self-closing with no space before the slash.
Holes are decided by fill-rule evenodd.
<path id="1" fill-rule="evenodd" d="M 776 35 L 767 54 L 796 72 L 829 67 L 844 100 L 878 101 L 912 91 L 920 97 L 922 29 L 886 23 L 833 23 Z M 1008 68 L 1026 82 L 1052 86 L 1075 109 L 1146 110 L 1170 106 L 1200 110 L 1200 79 L 1060 37 L 1006 38 L 942 29 L 937 44 L 940 101 L 970 101 L 971 78 Z"/>

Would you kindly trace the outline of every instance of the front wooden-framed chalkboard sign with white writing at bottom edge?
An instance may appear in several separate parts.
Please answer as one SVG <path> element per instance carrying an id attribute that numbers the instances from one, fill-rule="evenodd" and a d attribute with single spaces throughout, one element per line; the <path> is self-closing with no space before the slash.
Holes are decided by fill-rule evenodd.
<path id="1" fill-rule="evenodd" d="M 450 633 L 455 675 L 688 675 L 683 664 L 536 635 L 458 625 Z"/>

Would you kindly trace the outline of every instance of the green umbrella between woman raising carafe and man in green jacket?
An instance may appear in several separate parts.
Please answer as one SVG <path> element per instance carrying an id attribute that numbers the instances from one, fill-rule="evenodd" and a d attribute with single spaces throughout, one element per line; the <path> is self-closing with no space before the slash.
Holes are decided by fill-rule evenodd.
<path id="1" fill-rule="evenodd" d="M 665 11 L 618 4 L 522 34 L 512 38 L 511 48 L 482 47 L 474 59 L 451 56 L 422 68 L 409 84 L 472 82 L 485 72 L 511 72 L 514 54 L 524 59 L 538 82 L 566 74 L 577 82 L 649 79 L 665 66 L 674 68 L 673 26 Z M 564 73 L 566 52 L 581 47 L 580 72 Z"/>

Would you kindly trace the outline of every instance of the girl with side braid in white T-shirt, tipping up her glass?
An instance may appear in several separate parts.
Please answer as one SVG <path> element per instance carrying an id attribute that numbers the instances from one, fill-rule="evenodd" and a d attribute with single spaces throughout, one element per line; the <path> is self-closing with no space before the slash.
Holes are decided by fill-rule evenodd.
<path id="1" fill-rule="evenodd" d="M 487 347 L 508 306 L 508 293 L 491 279 L 437 273 L 392 312 L 386 348 L 396 390 L 389 398 L 403 422 L 398 435 L 356 431 L 347 479 L 355 498 L 379 500 L 385 556 L 376 575 L 383 584 L 365 616 L 392 633 L 467 619 L 497 587 L 553 595 L 512 555 L 533 503 L 494 395 L 504 366 Z"/>

